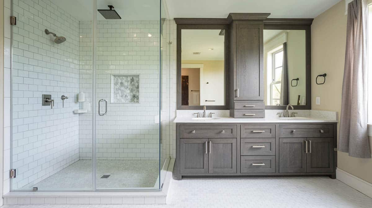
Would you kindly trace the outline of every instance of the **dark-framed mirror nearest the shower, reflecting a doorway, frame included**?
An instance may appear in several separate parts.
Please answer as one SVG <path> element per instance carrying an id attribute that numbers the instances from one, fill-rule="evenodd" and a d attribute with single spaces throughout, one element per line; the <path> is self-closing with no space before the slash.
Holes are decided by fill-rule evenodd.
<path id="1" fill-rule="evenodd" d="M 228 109 L 227 25 L 177 25 L 177 109 Z"/>

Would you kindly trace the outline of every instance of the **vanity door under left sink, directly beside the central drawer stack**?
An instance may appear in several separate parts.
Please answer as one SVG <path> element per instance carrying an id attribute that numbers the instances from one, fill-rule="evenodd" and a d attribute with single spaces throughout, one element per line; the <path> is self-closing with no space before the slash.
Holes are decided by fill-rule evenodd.
<path id="1" fill-rule="evenodd" d="M 235 138 L 209 139 L 209 173 L 236 173 Z"/>

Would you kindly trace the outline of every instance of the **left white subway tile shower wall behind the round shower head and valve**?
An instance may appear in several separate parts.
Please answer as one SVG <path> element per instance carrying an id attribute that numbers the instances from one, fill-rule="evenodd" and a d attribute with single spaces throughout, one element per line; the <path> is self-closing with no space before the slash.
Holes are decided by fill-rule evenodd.
<path id="1" fill-rule="evenodd" d="M 18 189 L 78 160 L 79 23 L 49 0 L 14 0 L 13 15 L 12 185 Z M 54 43 L 45 29 L 66 42 Z M 42 106 L 42 94 L 55 100 L 53 109 Z M 64 108 L 62 95 L 69 97 Z"/>

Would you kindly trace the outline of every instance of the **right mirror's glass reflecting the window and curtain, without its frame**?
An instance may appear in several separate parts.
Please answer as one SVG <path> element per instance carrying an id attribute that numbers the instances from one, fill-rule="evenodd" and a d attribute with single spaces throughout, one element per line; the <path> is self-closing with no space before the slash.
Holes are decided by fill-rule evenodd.
<path id="1" fill-rule="evenodd" d="M 306 105 L 305 30 L 264 30 L 265 105 Z"/>

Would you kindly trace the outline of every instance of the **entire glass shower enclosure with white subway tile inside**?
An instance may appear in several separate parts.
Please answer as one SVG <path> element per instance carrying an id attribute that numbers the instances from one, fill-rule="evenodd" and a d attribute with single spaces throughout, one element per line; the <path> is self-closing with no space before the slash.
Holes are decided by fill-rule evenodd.
<path id="1" fill-rule="evenodd" d="M 160 0 L 13 0 L 12 191 L 161 189 Z"/>

